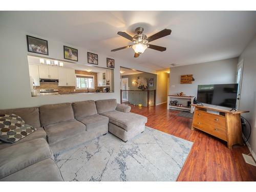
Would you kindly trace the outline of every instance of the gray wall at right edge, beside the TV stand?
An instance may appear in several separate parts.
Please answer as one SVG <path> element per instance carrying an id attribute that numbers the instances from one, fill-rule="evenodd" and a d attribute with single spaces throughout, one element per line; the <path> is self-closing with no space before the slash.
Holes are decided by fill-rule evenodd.
<path id="1" fill-rule="evenodd" d="M 256 153 L 256 35 L 239 57 L 244 59 L 243 79 L 240 96 L 240 110 L 249 110 L 242 114 L 251 124 L 249 144 Z M 248 134 L 247 134 L 248 135 Z"/>

